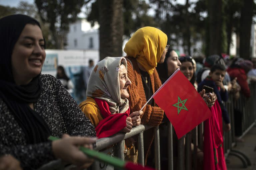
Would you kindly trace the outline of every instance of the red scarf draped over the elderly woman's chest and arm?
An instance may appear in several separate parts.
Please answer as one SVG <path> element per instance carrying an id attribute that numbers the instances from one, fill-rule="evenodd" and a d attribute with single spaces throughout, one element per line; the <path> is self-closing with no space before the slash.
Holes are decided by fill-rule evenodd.
<path id="1" fill-rule="evenodd" d="M 99 106 L 100 113 L 103 117 L 95 128 L 98 138 L 109 137 L 116 134 L 126 127 L 126 118 L 130 115 L 130 108 L 125 113 L 112 115 L 109 110 L 109 105 L 105 100 L 94 98 Z"/>

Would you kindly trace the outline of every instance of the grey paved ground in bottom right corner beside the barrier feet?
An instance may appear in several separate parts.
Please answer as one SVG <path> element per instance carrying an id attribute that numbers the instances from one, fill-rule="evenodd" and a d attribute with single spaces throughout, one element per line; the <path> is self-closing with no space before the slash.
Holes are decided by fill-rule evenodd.
<path id="1" fill-rule="evenodd" d="M 244 142 L 238 142 L 235 150 L 243 152 L 250 159 L 252 165 L 243 168 L 242 162 L 235 156 L 229 155 L 228 170 L 256 170 L 256 127 L 254 126 L 244 137 Z"/>

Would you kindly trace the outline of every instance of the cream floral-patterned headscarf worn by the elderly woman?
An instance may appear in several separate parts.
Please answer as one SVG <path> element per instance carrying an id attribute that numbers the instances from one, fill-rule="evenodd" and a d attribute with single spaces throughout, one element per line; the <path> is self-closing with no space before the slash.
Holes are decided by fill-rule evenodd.
<path id="1" fill-rule="evenodd" d="M 112 114 L 124 113 L 129 108 L 128 99 L 121 99 L 119 84 L 120 65 L 127 62 L 124 57 L 106 57 L 96 64 L 91 72 L 86 95 L 108 103 Z"/>

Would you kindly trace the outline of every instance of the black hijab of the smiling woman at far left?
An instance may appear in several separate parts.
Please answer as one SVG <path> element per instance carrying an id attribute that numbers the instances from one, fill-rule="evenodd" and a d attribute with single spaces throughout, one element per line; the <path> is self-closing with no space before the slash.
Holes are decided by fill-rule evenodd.
<path id="1" fill-rule="evenodd" d="M 10 15 L 0 19 L 0 97 L 25 133 L 27 144 L 47 141 L 51 134 L 44 119 L 29 107 L 41 94 L 40 74 L 27 85 L 16 85 L 11 55 L 26 24 L 39 23 L 26 15 Z"/>

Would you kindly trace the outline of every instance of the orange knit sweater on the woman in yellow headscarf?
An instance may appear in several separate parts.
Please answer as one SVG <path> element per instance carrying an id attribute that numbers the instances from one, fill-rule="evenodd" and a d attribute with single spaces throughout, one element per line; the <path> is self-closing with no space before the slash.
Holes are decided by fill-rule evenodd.
<path id="1" fill-rule="evenodd" d="M 130 94 L 128 100 L 132 113 L 134 111 L 139 111 L 147 101 L 141 80 L 140 69 L 136 59 L 133 57 L 126 57 L 126 59 L 128 77 L 132 82 L 132 84 L 127 89 L 128 93 Z M 155 91 L 162 85 L 156 69 L 154 70 L 154 73 L 150 75 L 150 80 L 153 93 L 155 93 Z M 158 126 L 163 120 L 164 111 L 159 107 L 146 105 L 142 111 L 144 112 L 141 117 L 141 124 L 143 125 Z"/>

